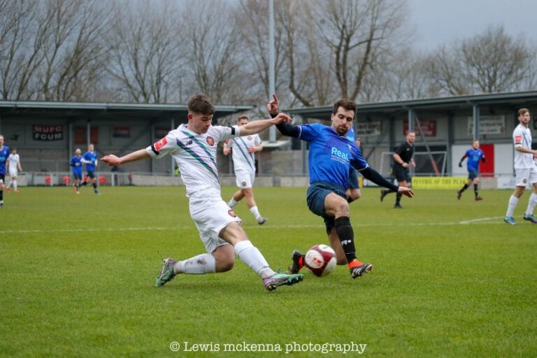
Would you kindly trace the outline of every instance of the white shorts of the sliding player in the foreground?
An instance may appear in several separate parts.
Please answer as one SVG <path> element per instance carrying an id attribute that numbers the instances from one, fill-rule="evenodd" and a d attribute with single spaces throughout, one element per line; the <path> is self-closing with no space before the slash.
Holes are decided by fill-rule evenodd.
<path id="1" fill-rule="evenodd" d="M 229 243 L 220 238 L 219 234 L 230 222 L 242 222 L 233 209 L 227 206 L 222 196 L 213 193 L 190 196 L 190 217 L 199 231 L 199 237 L 208 253 L 219 246 Z"/>

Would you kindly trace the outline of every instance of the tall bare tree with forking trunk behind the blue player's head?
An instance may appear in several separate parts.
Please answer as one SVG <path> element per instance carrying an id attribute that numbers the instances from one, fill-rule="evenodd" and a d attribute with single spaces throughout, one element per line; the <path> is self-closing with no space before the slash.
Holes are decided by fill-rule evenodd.
<path id="1" fill-rule="evenodd" d="M 400 41 L 406 1 L 322 0 L 308 5 L 317 36 L 334 55 L 340 95 L 357 99 L 367 73 Z"/>

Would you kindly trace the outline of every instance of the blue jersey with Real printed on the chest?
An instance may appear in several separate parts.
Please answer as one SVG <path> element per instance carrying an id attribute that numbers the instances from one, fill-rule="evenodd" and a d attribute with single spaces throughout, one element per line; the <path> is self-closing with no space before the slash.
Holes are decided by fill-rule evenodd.
<path id="1" fill-rule="evenodd" d="M 339 136 L 334 128 L 319 123 L 297 126 L 299 138 L 310 142 L 308 169 L 310 184 L 331 182 L 347 189 L 350 166 L 358 171 L 368 168 L 366 159 L 354 142 Z"/>

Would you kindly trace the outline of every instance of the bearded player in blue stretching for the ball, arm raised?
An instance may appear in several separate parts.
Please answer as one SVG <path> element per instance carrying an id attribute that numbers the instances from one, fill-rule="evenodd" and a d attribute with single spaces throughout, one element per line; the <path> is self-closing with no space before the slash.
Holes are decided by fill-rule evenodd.
<path id="1" fill-rule="evenodd" d="M 278 115 L 279 103 L 275 94 L 266 107 L 271 116 Z M 337 101 L 331 114 L 331 126 L 320 123 L 276 125 L 285 136 L 310 143 L 310 187 L 306 198 L 308 208 L 324 219 L 338 264 L 347 264 L 352 278 L 371 271 L 373 265 L 360 262 L 355 253 L 355 234 L 350 224 L 350 208 L 345 194 L 350 167 L 357 169 L 364 178 L 375 184 L 394 189 L 410 198 L 414 195 L 412 189 L 397 187 L 372 169 L 362 157 L 356 143 L 345 138 L 355 121 L 356 108 L 356 103 L 349 99 Z M 303 267 L 303 255 L 295 250 L 292 259 L 291 272 L 297 273 Z"/>

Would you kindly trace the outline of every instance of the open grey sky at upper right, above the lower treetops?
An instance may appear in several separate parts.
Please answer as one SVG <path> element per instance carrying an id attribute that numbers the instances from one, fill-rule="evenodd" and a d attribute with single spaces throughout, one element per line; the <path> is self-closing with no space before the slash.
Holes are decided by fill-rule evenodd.
<path id="1" fill-rule="evenodd" d="M 490 24 L 536 43 L 537 0 L 408 0 L 408 5 L 415 45 L 423 50 L 480 34 Z"/>

